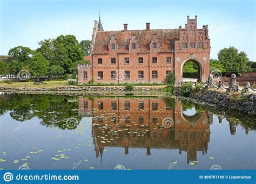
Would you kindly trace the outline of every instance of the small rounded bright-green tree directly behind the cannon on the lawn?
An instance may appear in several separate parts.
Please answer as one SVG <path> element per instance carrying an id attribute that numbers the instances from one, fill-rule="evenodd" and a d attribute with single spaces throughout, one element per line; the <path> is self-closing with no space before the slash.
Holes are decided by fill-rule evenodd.
<path id="1" fill-rule="evenodd" d="M 33 76 L 40 77 L 48 75 L 49 61 L 44 56 L 37 52 L 32 56 L 30 63 L 30 72 Z"/>

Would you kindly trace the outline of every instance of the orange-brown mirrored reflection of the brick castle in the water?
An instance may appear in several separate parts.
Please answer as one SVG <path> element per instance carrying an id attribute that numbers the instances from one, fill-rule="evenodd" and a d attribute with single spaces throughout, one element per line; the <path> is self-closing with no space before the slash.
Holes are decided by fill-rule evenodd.
<path id="1" fill-rule="evenodd" d="M 96 157 L 104 147 L 179 149 L 187 162 L 197 151 L 207 153 L 210 125 L 206 112 L 187 116 L 179 100 L 170 107 L 163 98 L 79 98 L 79 115 L 92 116 Z M 171 121 L 170 121 L 171 120 Z"/>

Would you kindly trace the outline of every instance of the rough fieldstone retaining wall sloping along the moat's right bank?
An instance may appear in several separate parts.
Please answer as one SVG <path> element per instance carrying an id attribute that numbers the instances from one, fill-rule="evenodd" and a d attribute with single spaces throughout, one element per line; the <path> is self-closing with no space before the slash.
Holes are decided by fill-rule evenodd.
<path id="1" fill-rule="evenodd" d="M 180 87 L 176 87 L 176 95 L 180 95 Z M 256 95 L 225 93 L 224 91 L 201 89 L 192 92 L 190 97 L 200 101 L 210 102 L 229 110 L 239 110 L 248 115 L 256 115 Z"/>

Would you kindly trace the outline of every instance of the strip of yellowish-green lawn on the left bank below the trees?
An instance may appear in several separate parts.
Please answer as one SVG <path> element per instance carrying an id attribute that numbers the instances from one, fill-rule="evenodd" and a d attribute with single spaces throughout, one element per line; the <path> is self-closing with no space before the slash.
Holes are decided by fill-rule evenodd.
<path id="1" fill-rule="evenodd" d="M 47 84 L 40 83 L 39 85 L 35 85 L 33 82 L 10 82 L 5 83 L 1 82 L 0 87 L 17 87 L 17 88 L 52 88 L 59 86 L 68 86 L 68 81 L 43 81 Z"/>

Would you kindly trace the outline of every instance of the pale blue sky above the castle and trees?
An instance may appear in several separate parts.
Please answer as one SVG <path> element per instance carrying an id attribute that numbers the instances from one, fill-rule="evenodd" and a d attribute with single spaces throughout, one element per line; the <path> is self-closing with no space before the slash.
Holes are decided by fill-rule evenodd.
<path id="1" fill-rule="evenodd" d="M 38 47 L 38 41 L 73 34 L 77 40 L 91 39 L 98 11 L 104 30 L 178 28 L 186 16 L 198 16 L 198 27 L 208 24 L 211 58 L 221 48 L 235 46 L 255 59 L 255 1 L 12 1 L 0 0 L 0 54 L 10 48 Z"/>

